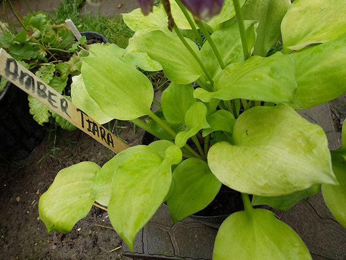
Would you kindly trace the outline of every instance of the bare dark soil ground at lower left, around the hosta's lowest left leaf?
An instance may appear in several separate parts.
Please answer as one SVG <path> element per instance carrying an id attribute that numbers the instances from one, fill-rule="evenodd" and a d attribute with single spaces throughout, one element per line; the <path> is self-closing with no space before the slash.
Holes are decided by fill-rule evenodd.
<path id="1" fill-rule="evenodd" d="M 111 128 L 115 120 L 111 122 Z M 142 130 L 118 121 L 120 137 L 139 144 Z M 108 128 L 108 125 L 105 125 Z M 120 131 L 119 131 L 120 132 Z M 60 138 L 61 137 L 61 138 Z M 59 140 L 60 138 L 60 140 Z M 54 145 L 54 140 L 59 140 Z M 41 145 L 21 162 L 0 164 L 0 259 L 129 259 L 122 256 L 121 238 L 111 227 L 106 211 L 95 206 L 72 231 L 48 234 L 39 218 L 38 201 L 63 168 L 82 161 L 102 166 L 113 153 L 77 130 L 46 132 Z M 95 225 L 97 224 L 97 225 Z M 112 252 L 112 249 L 118 248 Z"/>

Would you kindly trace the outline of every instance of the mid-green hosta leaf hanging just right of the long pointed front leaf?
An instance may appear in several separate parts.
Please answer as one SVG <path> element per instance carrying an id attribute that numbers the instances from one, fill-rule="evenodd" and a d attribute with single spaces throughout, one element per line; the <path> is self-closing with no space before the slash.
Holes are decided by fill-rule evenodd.
<path id="1" fill-rule="evenodd" d="M 208 164 L 197 158 L 183 161 L 173 172 L 174 190 L 167 200 L 174 223 L 209 205 L 218 194 L 221 182 Z"/>

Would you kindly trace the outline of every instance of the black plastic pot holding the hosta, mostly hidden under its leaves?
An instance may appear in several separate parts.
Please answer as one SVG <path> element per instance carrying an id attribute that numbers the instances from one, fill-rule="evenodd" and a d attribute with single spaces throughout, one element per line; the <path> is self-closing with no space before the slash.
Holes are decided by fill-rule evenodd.
<path id="1" fill-rule="evenodd" d="M 154 137 L 153 135 L 151 135 L 150 133 L 144 132 L 140 143 L 141 143 L 141 145 L 149 145 L 150 143 L 157 141 L 157 140 L 158 139 L 156 137 Z M 229 197 L 220 199 L 220 197 L 218 197 L 218 196 L 220 196 L 220 194 L 218 194 L 217 197 L 215 198 L 215 200 L 219 200 L 219 202 L 218 201 L 213 201 L 213 202 L 216 202 L 216 204 L 229 203 L 230 204 L 230 207 L 228 207 L 229 211 L 227 211 L 226 214 L 215 215 L 215 216 L 214 215 L 213 216 L 204 216 L 204 215 L 201 216 L 198 214 L 198 213 L 202 213 L 202 211 L 200 211 L 200 212 L 196 213 L 196 215 L 190 215 L 189 217 L 194 218 L 194 219 L 198 219 L 198 220 L 203 221 L 203 222 L 220 225 L 230 214 L 237 212 L 239 210 L 243 210 L 244 207 L 243 207 L 243 202 L 242 202 L 240 193 L 237 191 L 233 191 L 224 185 L 220 191 L 223 192 L 223 190 L 226 190 L 225 188 L 227 189 L 226 192 L 230 192 L 230 194 L 228 194 Z M 231 194 L 231 193 L 233 193 L 233 194 Z"/>

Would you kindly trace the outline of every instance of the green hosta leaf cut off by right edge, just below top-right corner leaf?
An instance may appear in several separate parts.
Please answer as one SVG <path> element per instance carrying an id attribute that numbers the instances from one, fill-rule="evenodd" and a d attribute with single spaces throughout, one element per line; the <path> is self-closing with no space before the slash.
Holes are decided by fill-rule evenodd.
<path id="1" fill-rule="evenodd" d="M 290 56 L 296 70 L 296 96 L 300 102 L 300 106 L 293 106 L 295 109 L 323 104 L 346 92 L 346 34 Z"/>

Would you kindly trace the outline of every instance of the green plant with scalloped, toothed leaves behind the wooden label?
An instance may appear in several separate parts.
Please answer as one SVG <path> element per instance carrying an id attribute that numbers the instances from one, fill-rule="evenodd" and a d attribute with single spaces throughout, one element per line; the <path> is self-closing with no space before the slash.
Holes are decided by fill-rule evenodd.
<path id="1" fill-rule="evenodd" d="M 22 30 L 11 33 L 4 28 L 0 43 L 9 54 L 20 61 L 26 68 L 49 84 L 66 98 L 70 98 L 70 81 L 73 75 L 80 74 L 81 57 L 87 52 L 81 48 L 86 44 L 83 36 L 80 42 L 75 42 L 72 32 L 65 24 L 52 24 L 47 14 L 32 13 L 20 17 Z M 1 85 L 5 86 L 2 79 Z M 76 127 L 51 111 L 37 99 L 29 96 L 30 113 L 39 123 L 49 122 L 51 117 L 62 128 L 74 130 Z"/>

